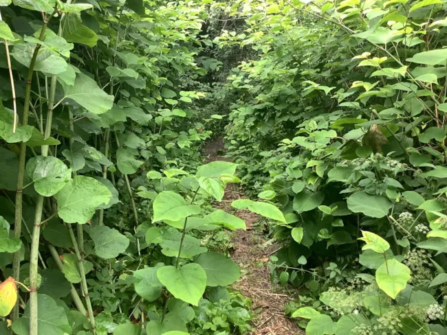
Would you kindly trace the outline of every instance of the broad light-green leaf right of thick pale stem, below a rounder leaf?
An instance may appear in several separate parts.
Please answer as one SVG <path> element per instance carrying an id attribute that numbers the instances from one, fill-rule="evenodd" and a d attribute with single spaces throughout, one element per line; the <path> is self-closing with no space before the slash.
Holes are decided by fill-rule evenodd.
<path id="1" fill-rule="evenodd" d="M 95 210 L 109 203 L 111 193 L 94 178 L 75 176 L 54 196 L 58 202 L 58 215 L 67 223 L 84 224 Z"/>

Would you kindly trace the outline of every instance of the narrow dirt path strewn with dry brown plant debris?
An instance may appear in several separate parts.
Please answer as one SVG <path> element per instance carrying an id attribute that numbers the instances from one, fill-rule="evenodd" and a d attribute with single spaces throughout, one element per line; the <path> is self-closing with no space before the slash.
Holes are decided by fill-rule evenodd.
<path id="1" fill-rule="evenodd" d="M 210 141 L 204 148 L 204 156 L 210 161 L 230 161 L 223 157 L 223 139 Z M 291 301 L 287 294 L 276 293 L 276 288 L 270 283 L 270 271 L 265 262 L 268 261 L 279 246 L 269 244 L 265 236 L 254 229 L 261 218 L 247 210 L 235 210 L 231 201 L 246 198 L 243 190 L 237 184 L 229 184 L 225 197 L 215 208 L 223 209 L 245 220 L 246 231 L 237 231 L 232 235 L 232 259 L 241 267 L 242 276 L 233 285 L 235 290 L 241 291 L 252 299 L 252 311 L 255 319 L 252 322 L 251 335 L 296 335 L 304 334 L 296 322 L 284 315 L 285 305 Z"/>

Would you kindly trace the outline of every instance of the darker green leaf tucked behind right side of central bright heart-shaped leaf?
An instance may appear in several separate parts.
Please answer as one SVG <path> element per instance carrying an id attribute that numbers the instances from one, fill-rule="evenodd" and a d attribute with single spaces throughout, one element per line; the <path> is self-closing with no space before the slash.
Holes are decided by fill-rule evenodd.
<path id="1" fill-rule="evenodd" d="M 202 253 L 195 263 L 204 268 L 206 273 L 206 286 L 227 286 L 233 284 L 241 277 L 239 266 L 232 259 L 220 253 Z"/>

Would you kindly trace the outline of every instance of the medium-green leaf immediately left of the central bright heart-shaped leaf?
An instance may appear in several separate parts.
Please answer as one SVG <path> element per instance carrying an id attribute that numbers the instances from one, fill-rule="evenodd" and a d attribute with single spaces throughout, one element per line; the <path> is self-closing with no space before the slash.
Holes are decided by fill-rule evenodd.
<path id="1" fill-rule="evenodd" d="M 155 301 L 162 295 L 163 285 L 157 277 L 157 270 L 163 266 L 157 264 L 153 268 L 142 268 L 133 273 L 135 278 L 135 292 L 147 301 Z"/>

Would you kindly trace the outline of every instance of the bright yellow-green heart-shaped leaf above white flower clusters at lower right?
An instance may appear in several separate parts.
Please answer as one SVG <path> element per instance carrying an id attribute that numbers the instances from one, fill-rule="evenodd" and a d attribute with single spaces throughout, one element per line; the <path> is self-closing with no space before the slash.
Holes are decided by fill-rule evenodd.
<path id="1" fill-rule="evenodd" d="M 379 288 L 393 299 L 405 288 L 410 279 L 411 271 L 408 266 L 395 259 L 388 259 L 375 270 L 375 281 Z"/>

